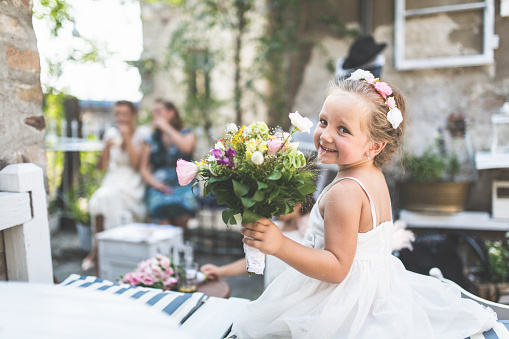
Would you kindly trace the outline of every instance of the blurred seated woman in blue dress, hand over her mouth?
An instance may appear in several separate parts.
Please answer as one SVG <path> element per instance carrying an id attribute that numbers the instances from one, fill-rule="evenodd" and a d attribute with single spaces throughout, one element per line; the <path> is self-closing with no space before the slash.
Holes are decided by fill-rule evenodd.
<path id="1" fill-rule="evenodd" d="M 146 140 L 140 173 L 147 183 L 145 204 L 149 218 L 161 225 L 186 227 L 196 208 L 192 184 L 180 186 L 177 160 L 191 161 L 196 136 L 184 129 L 171 102 L 157 100 L 152 110 L 154 132 Z"/>

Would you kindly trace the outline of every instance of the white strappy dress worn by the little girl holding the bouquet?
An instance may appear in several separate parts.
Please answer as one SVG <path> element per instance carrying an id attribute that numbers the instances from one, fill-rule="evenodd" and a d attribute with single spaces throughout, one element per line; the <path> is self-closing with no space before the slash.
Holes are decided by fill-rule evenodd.
<path id="1" fill-rule="evenodd" d="M 238 338 L 464 339 L 496 323 L 496 313 L 460 297 L 438 279 L 407 271 L 391 254 L 392 221 L 376 226 L 373 201 L 361 182 L 340 178 L 311 211 L 304 245 L 324 248 L 321 196 L 340 180 L 366 192 L 373 229 L 359 233 L 350 272 L 339 284 L 289 268 L 233 323 Z M 375 227 L 376 226 L 376 227 Z"/>

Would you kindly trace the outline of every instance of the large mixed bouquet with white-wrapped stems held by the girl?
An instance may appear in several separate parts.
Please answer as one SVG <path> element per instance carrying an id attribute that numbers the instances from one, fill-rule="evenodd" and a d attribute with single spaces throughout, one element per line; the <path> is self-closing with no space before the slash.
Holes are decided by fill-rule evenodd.
<path id="1" fill-rule="evenodd" d="M 306 164 L 299 144 L 291 142 L 297 130 L 310 132 L 313 123 L 298 112 L 289 115 L 291 133 L 269 130 L 264 122 L 249 126 L 226 126 L 225 135 L 210 150 L 208 158 L 196 162 L 177 161 L 180 185 L 195 177 L 204 181 L 204 195 L 212 194 L 228 208 L 223 221 L 248 224 L 293 211 L 298 202 L 316 189 L 315 172 Z M 262 274 L 265 256 L 244 244 L 247 270 Z"/>

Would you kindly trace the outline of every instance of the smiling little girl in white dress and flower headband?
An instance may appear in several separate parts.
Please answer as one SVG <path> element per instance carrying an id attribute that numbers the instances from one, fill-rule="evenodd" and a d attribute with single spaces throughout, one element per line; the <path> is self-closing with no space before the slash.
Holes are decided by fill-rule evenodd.
<path id="1" fill-rule="evenodd" d="M 380 168 L 403 136 L 405 102 L 357 70 L 333 84 L 314 133 L 318 159 L 336 179 L 311 211 L 304 245 L 268 219 L 246 225 L 244 242 L 292 268 L 233 323 L 238 338 L 463 339 L 492 328 L 496 314 L 438 279 L 406 271 L 391 255 L 392 214 Z"/>

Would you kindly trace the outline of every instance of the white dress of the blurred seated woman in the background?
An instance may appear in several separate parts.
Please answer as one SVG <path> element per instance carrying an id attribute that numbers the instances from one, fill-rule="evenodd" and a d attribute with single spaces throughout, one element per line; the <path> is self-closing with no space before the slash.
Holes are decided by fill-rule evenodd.
<path id="1" fill-rule="evenodd" d="M 150 129 L 138 127 L 131 138 L 134 147 L 139 148 L 149 134 Z M 120 132 L 112 127 L 104 136 L 105 140 L 108 138 L 120 138 Z M 111 147 L 108 169 L 89 203 L 92 222 L 98 214 L 103 215 L 105 230 L 122 223 L 143 222 L 146 217 L 145 184 L 131 166 L 128 151 L 123 150 L 120 143 L 121 139 Z"/>

